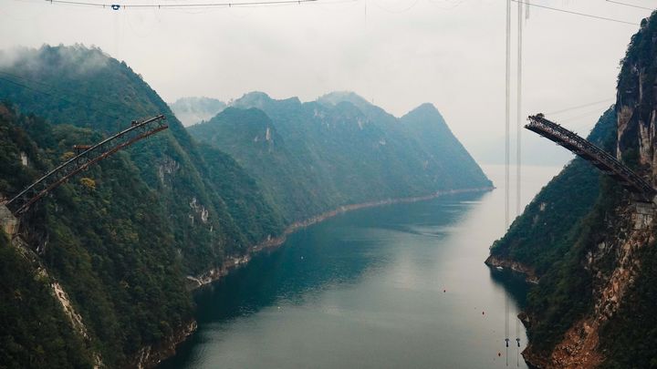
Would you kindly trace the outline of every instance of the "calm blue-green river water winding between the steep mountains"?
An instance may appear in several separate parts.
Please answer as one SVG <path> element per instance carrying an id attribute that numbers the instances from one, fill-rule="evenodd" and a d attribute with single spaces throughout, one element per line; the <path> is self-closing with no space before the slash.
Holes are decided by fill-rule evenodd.
<path id="1" fill-rule="evenodd" d="M 484 264 L 505 231 L 503 170 L 485 167 L 491 192 L 354 211 L 292 235 L 198 293 L 198 332 L 162 367 L 506 367 L 505 299 L 515 343 L 526 286 Z M 558 168 L 524 170 L 523 206 Z"/>

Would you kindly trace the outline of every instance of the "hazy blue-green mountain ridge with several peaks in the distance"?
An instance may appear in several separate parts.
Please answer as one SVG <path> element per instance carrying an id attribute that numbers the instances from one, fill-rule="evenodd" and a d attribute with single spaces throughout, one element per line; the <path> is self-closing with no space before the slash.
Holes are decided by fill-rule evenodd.
<path id="1" fill-rule="evenodd" d="M 398 119 L 351 93 L 301 103 L 253 92 L 188 130 L 243 165 L 287 221 L 491 186 L 429 104 Z"/>

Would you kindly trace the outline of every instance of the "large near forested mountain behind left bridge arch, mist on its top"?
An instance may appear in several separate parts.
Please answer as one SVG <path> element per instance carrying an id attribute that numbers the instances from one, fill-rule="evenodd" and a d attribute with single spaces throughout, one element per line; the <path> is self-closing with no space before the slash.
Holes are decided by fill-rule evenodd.
<path id="1" fill-rule="evenodd" d="M 185 275 L 221 271 L 283 231 L 282 217 L 234 159 L 193 142 L 139 75 L 98 49 L 23 50 L 0 73 L 0 98 L 10 101 L 5 129 L 17 132 L 3 135 L 0 149 L 7 198 L 75 144 L 98 142 L 135 118 L 168 118 L 168 130 L 84 172 L 90 180 L 71 179 L 22 221 L 85 323 L 88 354 L 104 364 L 160 360 L 193 323 Z M 26 314 L 16 324 L 31 320 Z M 8 332 L 0 334 L 9 339 Z"/>

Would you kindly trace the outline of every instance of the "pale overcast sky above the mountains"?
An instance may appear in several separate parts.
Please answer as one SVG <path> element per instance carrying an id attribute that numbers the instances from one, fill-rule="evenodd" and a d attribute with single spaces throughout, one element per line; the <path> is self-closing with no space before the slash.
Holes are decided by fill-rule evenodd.
<path id="1" fill-rule="evenodd" d="M 619 61 L 650 11 L 605 0 L 533 2 L 637 24 L 530 9 L 524 24 L 522 115 L 609 99 L 553 117 L 586 133 L 612 103 Z M 626 2 L 654 5 L 653 0 Z M 517 5 L 512 6 L 515 28 Z M 504 0 L 318 0 L 119 11 L 0 0 L 0 48 L 99 46 L 125 60 L 166 101 L 187 96 L 228 100 L 253 90 L 308 101 L 352 90 L 396 116 L 431 102 L 475 158 L 485 159 L 480 147 L 504 134 L 505 10 Z M 512 39 L 515 65 L 515 32 Z"/>

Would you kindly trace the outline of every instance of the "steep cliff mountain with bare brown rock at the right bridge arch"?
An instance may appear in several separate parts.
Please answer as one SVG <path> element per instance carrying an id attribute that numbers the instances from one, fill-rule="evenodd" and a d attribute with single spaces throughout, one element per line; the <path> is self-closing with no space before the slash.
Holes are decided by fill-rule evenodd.
<path id="1" fill-rule="evenodd" d="M 589 139 L 655 183 L 652 135 L 657 14 L 641 22 L 621 62 L 617 101 Z M 655 206 L 636 202 L 573 160 L 495 241 L 487 262 L 537 281 L 525 312 L 537 367 L 657 366 Z"/>

